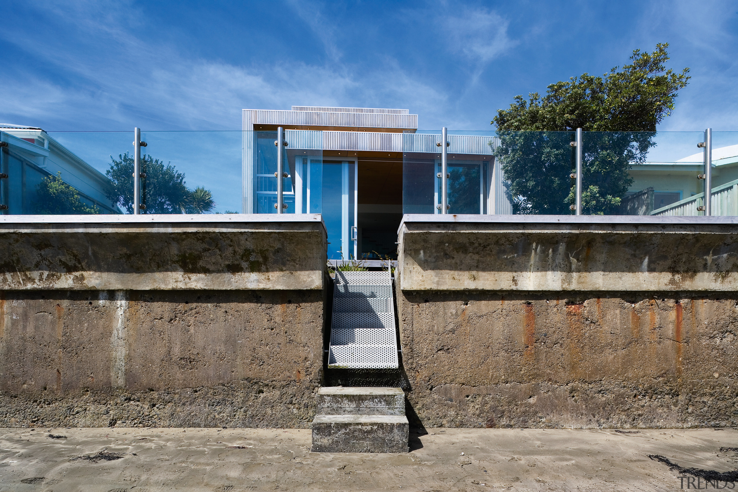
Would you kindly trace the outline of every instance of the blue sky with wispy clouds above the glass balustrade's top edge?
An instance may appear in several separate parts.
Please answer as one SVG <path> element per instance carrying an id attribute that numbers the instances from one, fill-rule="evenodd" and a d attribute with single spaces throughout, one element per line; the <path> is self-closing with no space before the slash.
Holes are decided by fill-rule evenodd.
<path id="1" fill-rule="evenodd" d="M 0 122 L 239 130 L 241 108 L 407 108 L 489 130 L 516 94 L 669 42 L 692 69 L 663 131 L 737 130 L 730 1 L 4 1 Z"/>

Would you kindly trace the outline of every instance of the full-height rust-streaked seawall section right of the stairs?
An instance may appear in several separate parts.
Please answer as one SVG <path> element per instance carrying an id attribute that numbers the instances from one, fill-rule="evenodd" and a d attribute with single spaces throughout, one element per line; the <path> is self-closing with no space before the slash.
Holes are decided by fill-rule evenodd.
<path id="1" fill-rule="evenodd" d="M 736 266 L 731 263 L 734 246 L 725 238 L 738 232 L 738 226 L 700 224 L 694 219 L 702 218 L 692 219 L 692 240 L 672 243 L 672 256 L 681 257 L 682 263 L 672 263 L 669 275 L 681 276 L 687 285 L 700 285 L 700 291 L 677 291 L 676 285 L 671 291 L 627 289 L 633 283 L 645 283 L 632 266 L 658 251 L 650 248 L 661 239 L 649 238 L 648 233 L 639 236 L 644 238 L 643 251 L 633 239 L 630 252 L 610 248 L 608 254 L 599 254 L 596 246 L 607 245 L 611 238 L 616 242 L 621 232 L 601 231 L 593 237 L 592 226 L 576 223 L 566 234 L 551 224 L 520 228 L 450 221 L 403 224 L 402 270 L 396 283 L 402 359 L 412 388 L 408 399 L 420 423 L 737 425 L 738 288 L 733 277 Z M 472 236 L 458 230 L 479 231 L 483 226 L 488 232 L 476 232 L 473 240 L 475 252 L 486 252 L 486 263 L 483 254 L 463 246 Z M 536 241 L 525 240 L 526 228 L 537 236 Z M 577 236 L 580 228 L 582 237 Z M 650 234 L 663 239 L 662 232 Z M 545 275 L 536 281 L 528 276 L 531 262 L 544 271 L 545 261 L 542 266 L 531 260 L 540 244 L 551 245 L 554 251 L 564 249 L 566 257 L 573 258 L 569 249 L 576 245 L 585 252 L 587 240 L 593 241 L 590 257 L 599 257 L 599 271 L 617 273 L 620 266 L 623 281 L 613 275 L 607 285 L 604 280 L 587 284 L 580 277 L 573 284 L 588 289 L 576 291 L 560 279 L 551 283 Z M 722 263 L 705 260 L 699 254 L 706 252 L 697 249 L 690 264 L 689 248 L 708 243 L 723 245 Z M 446 244 L 448 248 L 441 247 Z M 517 253 L 496 253 L 508 251 L 511 244 L 521 245 Z M 714 251 L 717 256 L 717 246 Z M 660 263 L 649 262 L 649 267 L 654 264 Z M 695 272 L 695 264 L 703 271 Z M 455 265 L 456 278 L 444 277 L 449 265 Z M 570 262 L 576 268 L 582 265 L 584 261 Z M 582 266 L 579 271 L 587 269 Z M 405 275 L 413 277 L 407 280 Z M 502 281 L 495 275 L 510 282 L 506 289 L 499 288 Z M 518 286 L 511 283 L 513 277 Z M 537 291 L 528 290 L 530 285 L 537 285 Z"/>

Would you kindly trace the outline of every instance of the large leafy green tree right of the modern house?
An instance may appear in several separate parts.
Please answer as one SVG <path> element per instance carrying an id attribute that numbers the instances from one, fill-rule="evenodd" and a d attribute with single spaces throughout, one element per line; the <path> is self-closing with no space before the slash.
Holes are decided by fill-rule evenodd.
<path id="1" fill-rule="evenodd" d="M 548 86 L 545 96 L 514 97 L 500 109 L 500 145 L 494 150 L 518 213 L 569 213 L 574 203 L 573 131 L 587 131 L 583 145 L 584 213 L 613 213 L 632 184 L 630 165 L 644 162 L 655 143 L 656 125 L 672 114 L 689 69 L 666 70 L 666 48 L 636 49 L 632 63 L 602 77 L 587 73 Z"/>

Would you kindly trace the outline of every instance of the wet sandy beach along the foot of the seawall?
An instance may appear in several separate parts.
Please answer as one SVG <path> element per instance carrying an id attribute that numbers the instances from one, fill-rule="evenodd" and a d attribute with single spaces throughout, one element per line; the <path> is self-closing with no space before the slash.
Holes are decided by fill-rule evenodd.
<path id="1" fill-rule="evenodd" d="M 649 454 L 738 468 L 720 451 L 738 447 L 734 429 L 427 429 L 410 446 L 311 453 L 305 429 L 0 429 L 0 491 L 669 491 L 682 481 Z"/>

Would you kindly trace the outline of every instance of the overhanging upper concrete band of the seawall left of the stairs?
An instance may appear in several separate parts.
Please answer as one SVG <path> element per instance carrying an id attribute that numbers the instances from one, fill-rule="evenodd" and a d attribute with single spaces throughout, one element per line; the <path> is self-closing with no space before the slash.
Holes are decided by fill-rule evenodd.
<path id="1" fill-rule="evenodd" d="M 1 216 L 0 289 L 323 288 L 320 215 L 138 217 Z"/>

